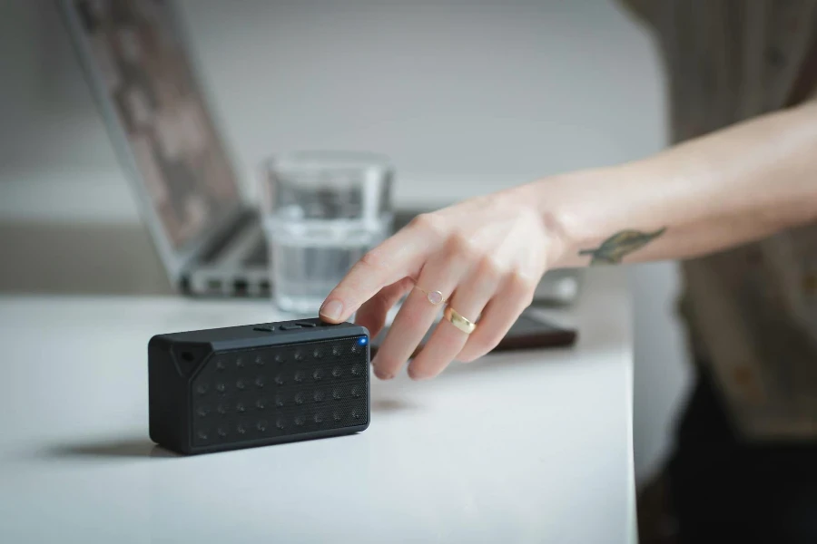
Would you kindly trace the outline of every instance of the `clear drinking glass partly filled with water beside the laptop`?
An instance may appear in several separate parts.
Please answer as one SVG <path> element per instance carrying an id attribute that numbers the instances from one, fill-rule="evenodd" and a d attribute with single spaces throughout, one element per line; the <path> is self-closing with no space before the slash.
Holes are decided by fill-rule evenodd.
<path id="1" fill-rule="evenodd" d="M 317 315 L 330 291 L 391 231 L 389 159 L 367 152 L 273 157 L 263 180 L 263 226 L 275 304 Z"/>

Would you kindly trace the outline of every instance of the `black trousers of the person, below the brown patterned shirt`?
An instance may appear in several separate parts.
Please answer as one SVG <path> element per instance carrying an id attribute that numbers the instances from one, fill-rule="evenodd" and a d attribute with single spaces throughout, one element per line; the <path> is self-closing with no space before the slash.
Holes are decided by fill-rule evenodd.
<path id="1" fill-rule="evenodd" d="M 679 543 L 817 542 L 817 442 L 744 442 L 722 398 L 699 373 L 677 427 L 666 475 Z"/>

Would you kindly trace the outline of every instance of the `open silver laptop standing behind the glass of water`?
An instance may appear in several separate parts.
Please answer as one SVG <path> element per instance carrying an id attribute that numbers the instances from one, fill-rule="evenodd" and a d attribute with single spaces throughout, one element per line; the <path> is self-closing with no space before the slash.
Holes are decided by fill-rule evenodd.
<path id="1" fill-rule="evenodd" d="M 242 195 L 172 0 L 56 1 L 172 285 L 270 296 L 258 209 Z M 420 211 L 399 210 L 394 228 Z M 580 279 L 550 272 L 536 299 L 570 303 Z"/>

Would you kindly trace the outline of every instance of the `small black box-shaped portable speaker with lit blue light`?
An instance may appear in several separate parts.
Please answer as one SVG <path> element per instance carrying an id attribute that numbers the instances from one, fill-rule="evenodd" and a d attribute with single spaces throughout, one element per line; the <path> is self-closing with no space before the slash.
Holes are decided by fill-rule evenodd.
<path id="1" fill-rule="evenodd" d="M 156 335 L 150 434 L 184 454 L 369 427 L 369 332 L 318 319 Z"/>

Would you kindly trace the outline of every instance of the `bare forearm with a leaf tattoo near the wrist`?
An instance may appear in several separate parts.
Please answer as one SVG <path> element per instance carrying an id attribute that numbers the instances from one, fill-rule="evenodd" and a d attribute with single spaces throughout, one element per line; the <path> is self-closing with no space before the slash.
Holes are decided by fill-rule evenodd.
<path id="1" fill-rule="evenodd" d="M 551 267 L 695 257 L 765 238 L 817 219 L 817 105 L 519 193 L 558 238 Z M 643 236 L 612 255 L 597 252 L 625 231 Z"/>

